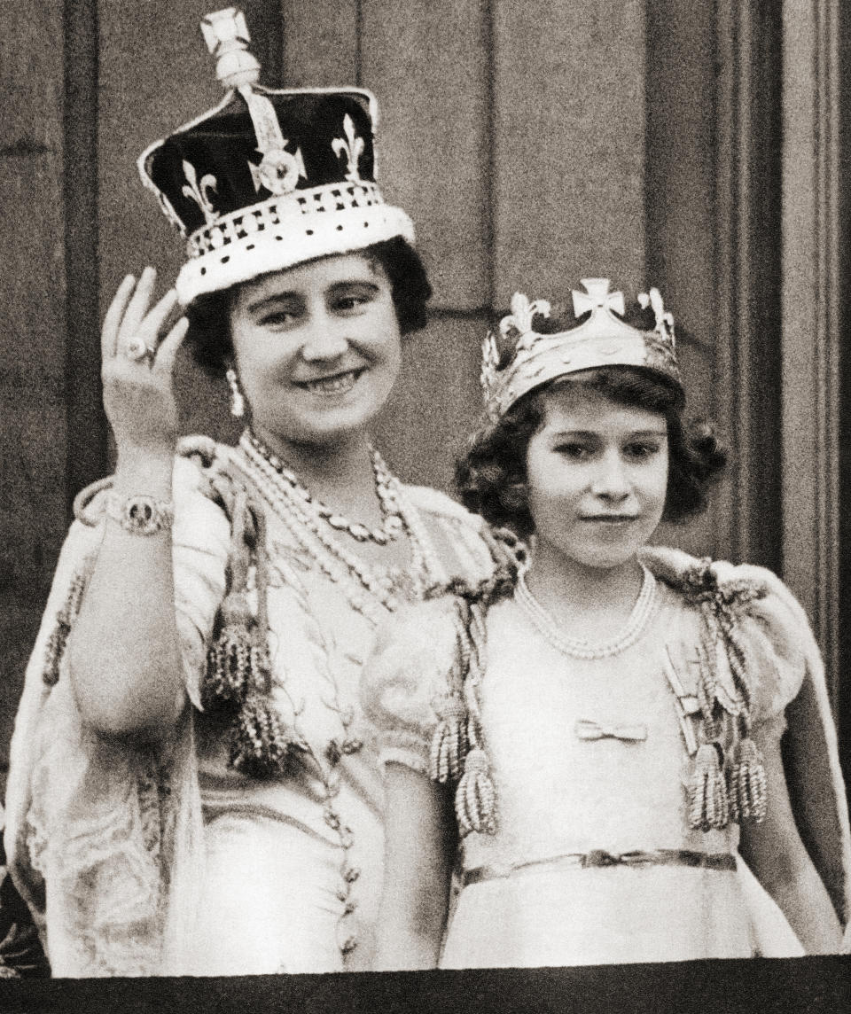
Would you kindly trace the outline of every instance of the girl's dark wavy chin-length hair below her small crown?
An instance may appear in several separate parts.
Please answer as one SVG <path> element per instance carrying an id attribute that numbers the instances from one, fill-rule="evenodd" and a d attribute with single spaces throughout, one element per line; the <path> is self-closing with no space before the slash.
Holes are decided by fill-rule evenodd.
<path id="1" fill-rule="evenodd" d="M 470 510 L 521 538 L 535 530 L 526 494 L 526 449 L 544 422 L 548 391 L 567 383 L 600 391 L 618 405 L 657 412 L 667 421 L 668 475 L 662 520 L 685 521 L 700 513 L 727 455 L 712 426 L 685 421 L 682 387 L 660 374 L 608 366 L 558 377 L 519 399 L 496 423 L 476 433 L 455 466 L 455 484 Z"/>

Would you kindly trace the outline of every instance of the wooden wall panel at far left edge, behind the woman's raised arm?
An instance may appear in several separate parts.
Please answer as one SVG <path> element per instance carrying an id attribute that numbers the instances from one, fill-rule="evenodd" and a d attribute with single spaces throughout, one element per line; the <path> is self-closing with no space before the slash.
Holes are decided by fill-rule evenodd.
<path id="1" fill-rule="evenodd" d="M 67 525 L 63 11 L 4 3 L 0 32 L 0 770 Z"/>

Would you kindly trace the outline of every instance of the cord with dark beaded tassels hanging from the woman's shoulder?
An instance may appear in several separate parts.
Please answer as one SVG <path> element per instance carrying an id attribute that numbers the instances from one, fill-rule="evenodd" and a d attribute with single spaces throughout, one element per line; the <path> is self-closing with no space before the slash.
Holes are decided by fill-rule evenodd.
<path id="1" fill-rule="evenodd" d="M 244 488 L 212 467 L 214 446 L 199 442 L 182 450 L 198 458 L 208 482 L 205 492 L 225 511 L 231 530 L 226 593 L 207 649 L 201 704 L 229 718 L 233 768 L 253 778 L 280 777 L 302 747 L 271 700 L 265 514 Z"/>

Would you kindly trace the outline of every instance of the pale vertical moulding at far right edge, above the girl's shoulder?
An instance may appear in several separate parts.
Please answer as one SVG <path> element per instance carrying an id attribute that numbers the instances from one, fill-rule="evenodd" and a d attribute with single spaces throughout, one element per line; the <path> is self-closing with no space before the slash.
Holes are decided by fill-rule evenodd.
<path id="1" fill-rule="evenodd" d="M 838 0 L 783 6 L 782 563 L 813 622 L 835 708 L 847 292 L 840 274 L 840 13 Z"/>

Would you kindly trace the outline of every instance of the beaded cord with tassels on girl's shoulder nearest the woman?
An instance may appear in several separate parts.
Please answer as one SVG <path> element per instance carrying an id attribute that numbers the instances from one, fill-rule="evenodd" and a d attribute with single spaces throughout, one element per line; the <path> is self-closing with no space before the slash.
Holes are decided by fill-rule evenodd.
<path id="1" fill-rule="evenodd" d="M 485 673 L 488 606 L 510 594 L 516 579 L 517 558 L 511 547 L 492 547 L 498 565 L 494 575 L 476 585 L 453 581 L 432 594 L 453 598 L 455 652 L 448 676 L 448 693 L 432 702 L 437 725 L 431 740 L 429 777 L 455 784 L 454 806 L 458 831 L 496 834 L 496 789 L 485 750 L 479 686 Z"/>

